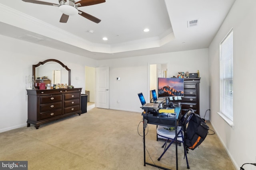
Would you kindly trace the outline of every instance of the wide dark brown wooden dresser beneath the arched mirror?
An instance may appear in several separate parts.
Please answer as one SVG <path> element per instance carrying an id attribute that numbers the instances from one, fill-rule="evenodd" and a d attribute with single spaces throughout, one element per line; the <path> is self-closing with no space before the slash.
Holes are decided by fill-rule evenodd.
<path id="1" fill-rule="evenodd" d="M 43 123 L 74 114 L 80 115 L 81 90 L 82 88 L 27 90 L 27 127 L 34 124 L 38 129 Z"/>

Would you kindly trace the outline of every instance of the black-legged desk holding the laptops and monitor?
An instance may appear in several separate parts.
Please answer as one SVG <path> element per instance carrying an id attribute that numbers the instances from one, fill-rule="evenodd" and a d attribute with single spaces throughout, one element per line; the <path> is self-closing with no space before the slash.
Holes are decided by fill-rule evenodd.
<path id="1" fill-rule="evenodd" d="M 148 120 L 148 124 L 154 124 L 154 125 L 162 125 L 162 126 L 171 126 L 171 127 L 175 127 L 175 134 L 177 135 L 177 125 L 178 125 L 178 120 L 180 119 L 180 110 L 181 110 L 181 106 L 178 105 L 176 106 L 176 108 L 174 109 L 174 111 L 176 112 L 176 117 L 170 117 L 170 116 L 166 116 L 166 115 L 161 115 L 158 113 L 158 115 L 151 115 L 151 114 L 145 114 L 142 113 L 143 116 L 143 121 L 145 119 Z M 143 128 L 143 147 L 144 147 L 144 166 L 146 166 L 146 164 L 151 165 L 151 166 L 155 166 L 164 170 L 170 170 L 168 168 L 164 168 L 162 166 L 158 166 L 155 164 L 150 164 L 148 162 L 146 162 L 146 149 L 145 149 L 145 128 Z M 176 170 L 178 170 L 178 150 L 177 150 L 177 142 L 175 143 L 175 147 L 176 147 Z"/>

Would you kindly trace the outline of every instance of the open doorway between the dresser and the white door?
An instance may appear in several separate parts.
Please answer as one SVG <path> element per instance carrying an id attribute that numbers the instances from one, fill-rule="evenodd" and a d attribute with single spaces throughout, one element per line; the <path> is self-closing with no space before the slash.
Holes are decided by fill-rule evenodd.
<path id="1" fill-rule="evenodd" d="M 87 98 L 87 111 L 95 107 L 96 96 L 96 68 L 85 66 L 85 94 Z"/>

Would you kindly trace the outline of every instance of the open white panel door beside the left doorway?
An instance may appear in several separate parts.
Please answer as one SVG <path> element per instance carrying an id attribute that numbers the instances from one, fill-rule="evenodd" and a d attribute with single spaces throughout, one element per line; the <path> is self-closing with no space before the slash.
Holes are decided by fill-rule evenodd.
<path id="1" fill-rule="evenodd" d="M 108 109 L 109 108 L 109 68 L 96 68 L 96 107 Z"/>

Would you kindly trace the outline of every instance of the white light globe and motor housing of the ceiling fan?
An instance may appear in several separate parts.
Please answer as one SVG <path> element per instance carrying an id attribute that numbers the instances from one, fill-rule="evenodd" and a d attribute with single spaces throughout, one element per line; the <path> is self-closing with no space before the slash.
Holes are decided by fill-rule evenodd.
<path id="1" fill-rule="evenodd" d="M 59 9 L 63 14 L 68 16 L 78 14 L 78 6 L 76 6 L 74 0 L 59 0 Z"/>

